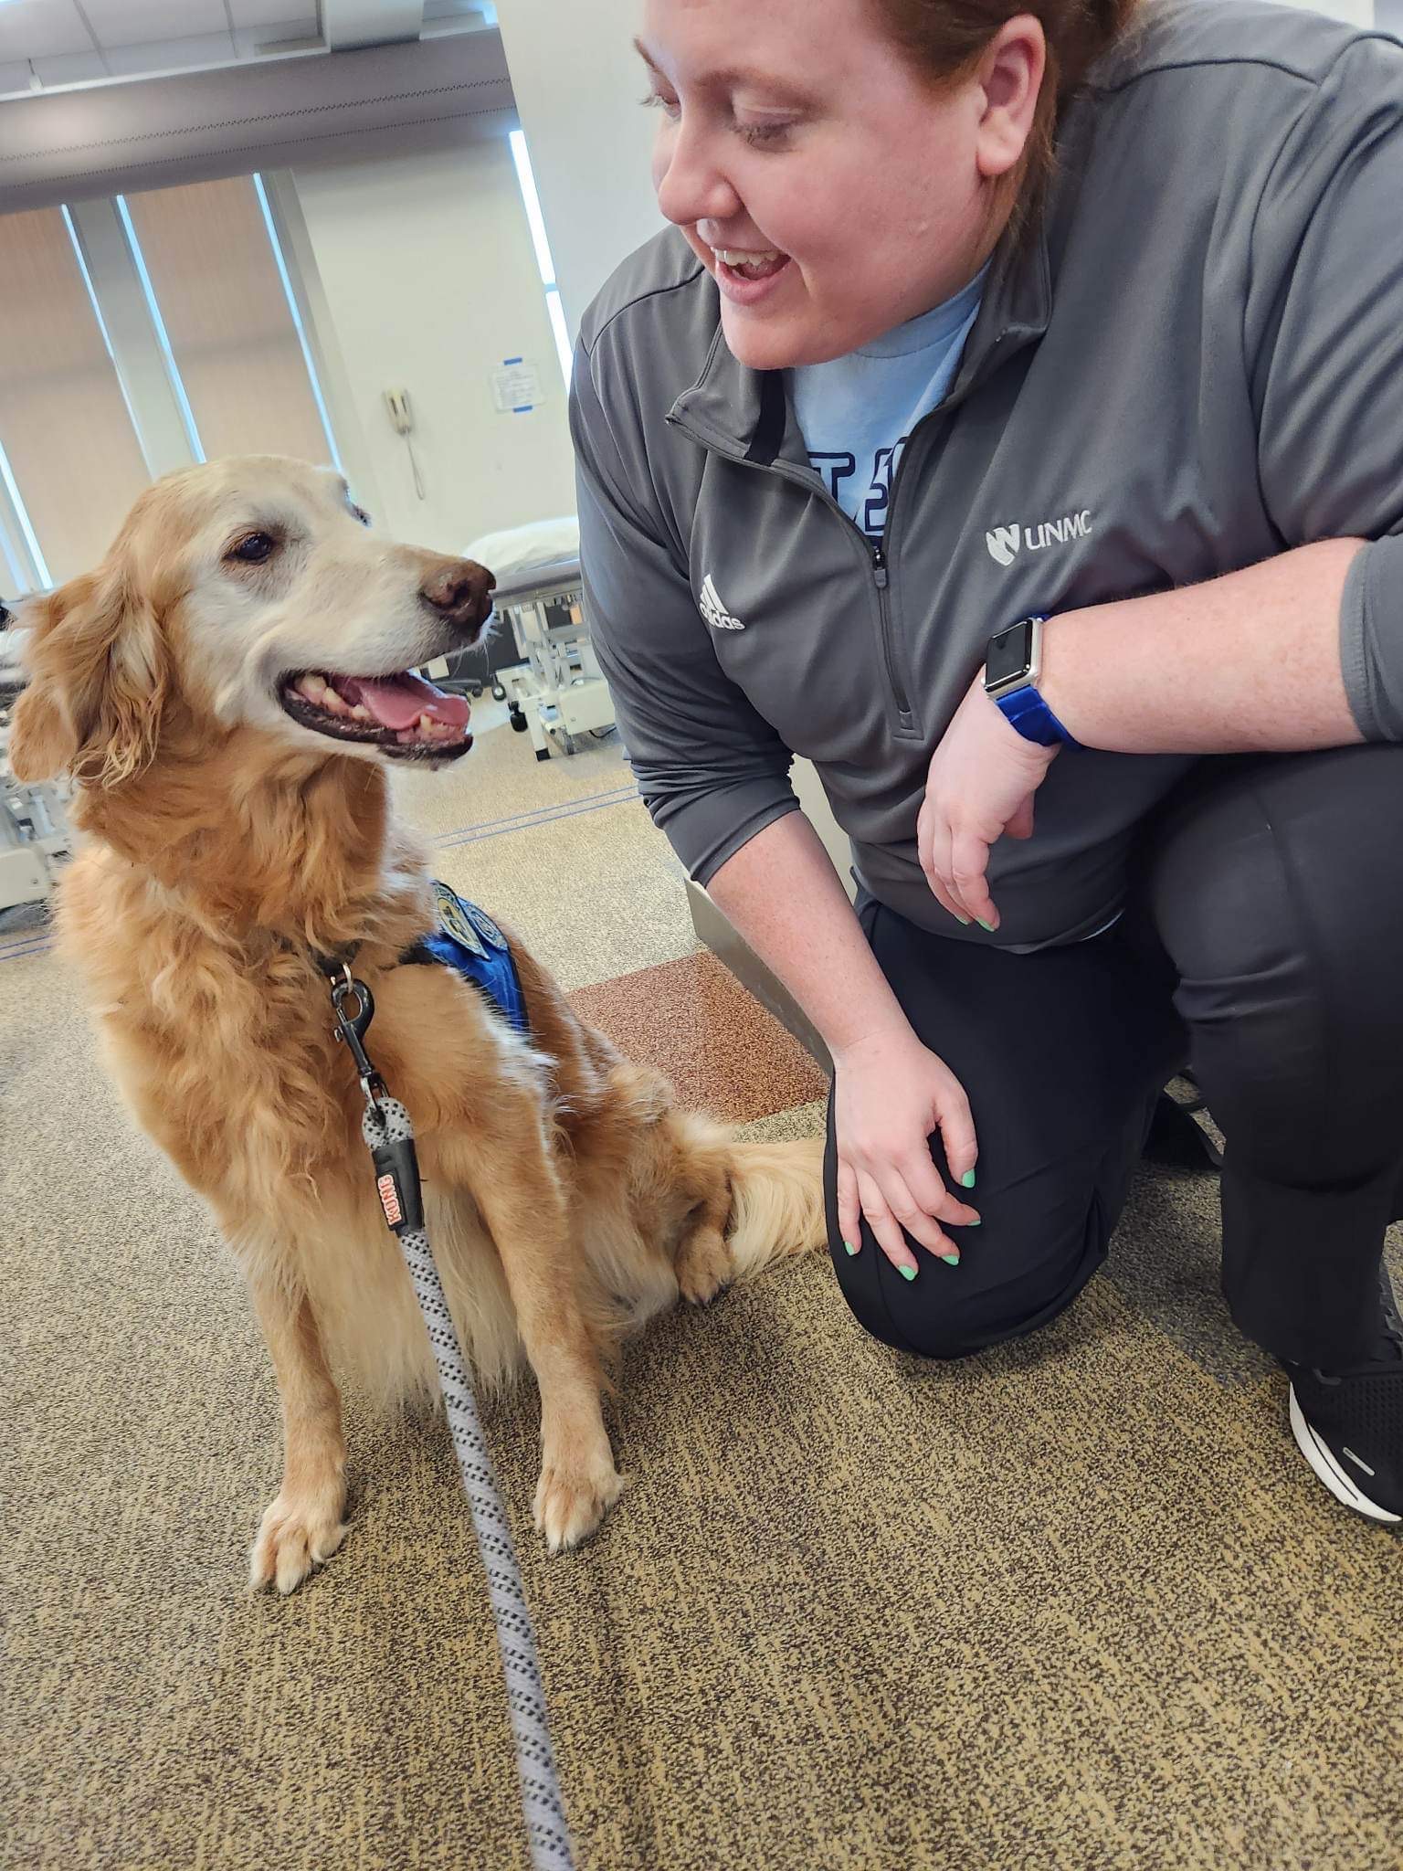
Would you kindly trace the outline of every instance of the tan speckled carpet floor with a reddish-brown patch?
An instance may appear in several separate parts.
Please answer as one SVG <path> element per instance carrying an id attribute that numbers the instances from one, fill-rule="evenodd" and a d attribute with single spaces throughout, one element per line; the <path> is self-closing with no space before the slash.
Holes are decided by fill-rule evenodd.
<path id="1" fill-rule="evenodd" d="M 589 1018 L 722 1115 L 817 1130 L 627 786 L 610 747 L 537 765 L 498 732 L 406 793 Z M 522 1871 L 445 1429 L 352 1396 L 346 1547 L 245 1594 L 268 1358 L 41 930 L 0 934 L 0 1864 Z M 557 1560 L 533 1396 L 490 1414 L 580 1871 L 1403 1864 L 1403 1545 L 1295 1454 L 1210 1181 L 1147 1173 L 1033 1342 L 902 1358 L 816 1257 L 655 1325 L 612 1414 L 636 1486 Z"/>

